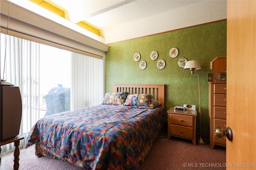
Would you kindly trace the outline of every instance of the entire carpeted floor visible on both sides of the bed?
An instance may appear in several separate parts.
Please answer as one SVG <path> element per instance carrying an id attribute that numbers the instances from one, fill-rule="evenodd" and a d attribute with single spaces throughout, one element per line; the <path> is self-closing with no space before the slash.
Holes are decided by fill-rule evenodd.
<path id="1" fill-rule="evenodd" d="M 2 159 L 13 166 L 13 153 L 3 154 Z M 192 145 L 191 140 L 158 137 L 139 170 L 225 170 L 226 148 L 210 145 Z M 36 157 L 34 146 L 20 149 L 19 170 L 82 170 L 62 160 Z"/>

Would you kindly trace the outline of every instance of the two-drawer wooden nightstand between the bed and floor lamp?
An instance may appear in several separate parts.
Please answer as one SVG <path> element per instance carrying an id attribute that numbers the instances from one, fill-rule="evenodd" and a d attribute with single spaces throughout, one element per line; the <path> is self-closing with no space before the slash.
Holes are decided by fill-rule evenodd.
<path id="1" fill-rule="evenodd" d="M 196 145 L 196 111 L 174 110 L 171 107 L 168 111 L 168 139 L 171 136 L 190 139 Z"/>

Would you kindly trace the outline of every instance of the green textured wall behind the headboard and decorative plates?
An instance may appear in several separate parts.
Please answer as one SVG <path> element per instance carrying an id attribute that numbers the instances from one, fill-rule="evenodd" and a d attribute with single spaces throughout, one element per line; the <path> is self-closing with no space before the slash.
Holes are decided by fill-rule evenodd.
<path id="1" fill-rule="evenodd" d="M 169 56 L 173 47 L 179 51 L 174 59 Z M 152 51 L 158 52 L 155 61 L 150 59 Z M 146 69 L 141 70 L 140 61 L 134 61 L 135 53 L 140 53 L 140 61 L 146 61 Z M 106 53 L 106 92 L 112 92 L 112 84 L 166 84 L 165 110 L 183 104 L 196 105 L 198 110 L 198 77 L 192 76 L 190 70 L 184 70 L 177 64 L 180 57 L 188 61 L 198 60 L 202 69 L 195 70 L 194 74 L 200 76 L 202 135 L 209 136 L 207 73 L 213 73 L 210 61 L 224 55 L 226 20 L 113 43 Z M 162 70 L 156 66 L 159 59 L 166 62 Z M 200 133 L 199 114 L 197 133 Z"/>

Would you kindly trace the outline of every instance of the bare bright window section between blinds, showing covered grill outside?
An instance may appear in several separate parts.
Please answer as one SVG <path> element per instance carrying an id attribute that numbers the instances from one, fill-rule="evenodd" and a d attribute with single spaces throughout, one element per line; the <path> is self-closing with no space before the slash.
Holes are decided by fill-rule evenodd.
<path id="1" fill-rule="evenodd" d="M 40 118 L 70 110 L 71 52 L 40 44 Z"/>

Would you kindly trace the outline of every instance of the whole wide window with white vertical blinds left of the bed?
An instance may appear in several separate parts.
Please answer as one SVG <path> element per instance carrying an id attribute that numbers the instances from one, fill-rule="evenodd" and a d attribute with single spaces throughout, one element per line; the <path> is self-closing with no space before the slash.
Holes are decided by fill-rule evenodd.
<path id="1" fill-rule="evenodd" d="M 56 98 L 67 98 L 64 103 L 63 100 L 50 102 L 65 107 L 54 113 L 102 102 L 102 59 L 5 34 L 1 34 L 1 77 L 20 87 L 23 104 L 20 134 L 23 135 L 51 108 L 46 101 L 49 93 Z M 65 94 L 55 95 L 59 89 Z"/>

